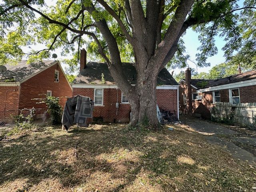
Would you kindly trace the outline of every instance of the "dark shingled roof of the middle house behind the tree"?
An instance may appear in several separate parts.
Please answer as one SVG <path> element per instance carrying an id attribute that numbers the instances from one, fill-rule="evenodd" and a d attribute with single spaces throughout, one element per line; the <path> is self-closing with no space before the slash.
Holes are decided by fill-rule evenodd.
<path id="1" fill-rule="evenodd" d="M 124 75 L 130 84 L 136 84 L 136 69 L 134 63 L 122 63 L 124 70 Z M 73 84 L 84 83 L 84 84 L 100 84 L 102 80 L 102 73 L 106 80 L 106 84 L 115 84 L 110 71 L 108 70 L 108 65 L 103 62 L 88 62 L 86 68 L 83 69 L 78 76 L 76 76 Z M 176 80 L 168 72 L 166 68 L 162 69 L 157 78 L 158 85 L 178 85 Z"/>

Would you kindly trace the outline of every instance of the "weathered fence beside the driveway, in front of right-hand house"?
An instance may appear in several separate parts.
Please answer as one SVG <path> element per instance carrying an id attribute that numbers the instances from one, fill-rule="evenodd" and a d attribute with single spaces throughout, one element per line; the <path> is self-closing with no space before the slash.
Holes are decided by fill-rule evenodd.
<path id="1" fill-rule="evenodd" d="M 239 108 L 216 108 L 210 110 L 214 122 L 239 125 L 256 130 L 256 111 Z"/>

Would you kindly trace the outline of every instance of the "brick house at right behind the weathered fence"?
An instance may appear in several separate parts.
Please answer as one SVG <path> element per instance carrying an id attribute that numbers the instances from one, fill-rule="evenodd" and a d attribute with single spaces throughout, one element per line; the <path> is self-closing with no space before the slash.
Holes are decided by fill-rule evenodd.
<path id="1" fill-rule="evenodd" d="M 239 73 L 240 72 L 240 73 Z M 210 108 L 215 102 L 256 102 L 256 70 L 219 78 L 216 80 L 191 79 L 191 71 L 185 72 L 179 82 L 180 112 L 210 118 Z M 190 83 L 188 83 L 190 82 Z"/>

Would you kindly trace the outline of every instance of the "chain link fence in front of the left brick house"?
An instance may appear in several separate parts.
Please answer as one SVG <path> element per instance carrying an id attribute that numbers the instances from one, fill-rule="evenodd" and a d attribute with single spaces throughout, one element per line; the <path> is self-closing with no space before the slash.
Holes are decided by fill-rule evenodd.
<path id="1" fill-rule="evenodd" d="M 0 128 L 12 128 L 15 125 L 14 117 L 22 114 L 24 118 L 32 116 L 35 124 L 44 124 L 47 122 L 49 115 L 46 108 L 31 108 L 21 110 L 6 110 L 6 114 L 10 114 L 9 118 L 0 118 Z"/>

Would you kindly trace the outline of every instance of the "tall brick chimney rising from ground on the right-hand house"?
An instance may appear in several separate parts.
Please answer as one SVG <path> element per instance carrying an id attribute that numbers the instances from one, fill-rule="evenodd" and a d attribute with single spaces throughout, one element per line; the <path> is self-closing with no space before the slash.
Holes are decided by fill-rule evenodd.
<path id="1" fill-rule="evenodd" d="M 187 114 L 192 114 L 192 87 L 191 87 L 191 70 L 187 68 L 185 71 L 185 80 L 186 80 L 186 112 Z"/>

